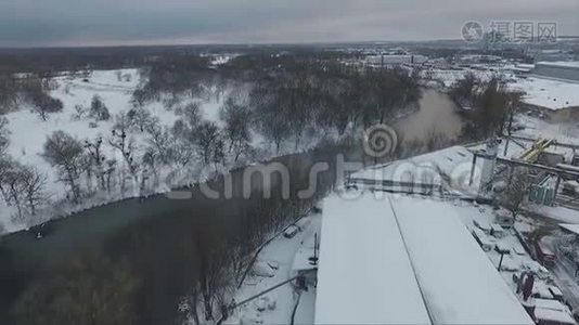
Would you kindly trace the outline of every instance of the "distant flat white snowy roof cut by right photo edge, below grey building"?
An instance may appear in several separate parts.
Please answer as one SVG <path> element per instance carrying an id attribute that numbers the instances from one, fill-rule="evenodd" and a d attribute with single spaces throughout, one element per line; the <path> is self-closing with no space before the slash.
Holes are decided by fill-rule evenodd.
<path id="1" fill-rule="evenodd" d="M 579 83 L 544 79 L 526 78 L 514 83 L 513 89 L 525 92 L 523 102 L 549 109 L 579 106 Z"/>

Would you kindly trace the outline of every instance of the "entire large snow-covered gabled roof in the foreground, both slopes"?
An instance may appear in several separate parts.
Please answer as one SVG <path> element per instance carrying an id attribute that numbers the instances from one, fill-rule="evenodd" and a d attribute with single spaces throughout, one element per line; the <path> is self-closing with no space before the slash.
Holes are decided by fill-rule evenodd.
<path id="1" fill-rule="evenodd" d="M 376 195 L 324 204 L 317 324 L 532 324 L 452 205 Z"/>

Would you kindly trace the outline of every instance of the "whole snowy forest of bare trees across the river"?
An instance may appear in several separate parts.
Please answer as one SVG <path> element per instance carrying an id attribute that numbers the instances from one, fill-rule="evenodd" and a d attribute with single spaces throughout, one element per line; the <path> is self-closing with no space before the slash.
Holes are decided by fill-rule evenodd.
<path id="1" fill-rule="evenodd" d="M 0 78 L 4 232 L 355 136 L 420 99 L 412 72 L 279 54 Z"/>

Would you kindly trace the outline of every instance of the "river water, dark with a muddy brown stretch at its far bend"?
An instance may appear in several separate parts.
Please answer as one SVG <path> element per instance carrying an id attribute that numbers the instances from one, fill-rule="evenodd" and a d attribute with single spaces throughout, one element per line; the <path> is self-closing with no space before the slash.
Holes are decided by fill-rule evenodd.
<path id="1" fill-rule="evenodd" d="M 404 133 L 404 140 L 425 141 L 433 130 L 453 139 L 461 126 L 453 103 L 445 94 L 425 90 L 419 110 L 403 118 L 397 129 Z M 364 160 L 360 148 L 356 146 L 288 155 L 274 161 L 288 169 L 292 194 L 308 184 L 309 172 L 314 164 L 326 161 L 330 171 L 319 177 L 317 187 L 317 195 L 323 196 L 338 181 L 334 170 L 338 153 L 345 155 L 347 161 Z M 156 283 L 151 284 L 151 295 L 155 297 L 142 304 L 151 309 L 150 316 L 141 321 L 143 324 L 165 323 L 166 318 L 160 315 L 172 311 L 164 309 L 175 307 L 175 299 L 185 294 L 180 291 L 183 284 L 175 276 L 182 262 L 172 257 L 178 249 L 175 246 L 178 240 L 175 239 L 189 236 L 192 220 L 197 218 L 209 220 L 211 235 L 228 236 L 235 232 L 240 226 L 240 218 L 236 217 L 242 211 L 252 213 L 256 209 L 254 202 L 242 197 L 243 174 L 243 170 L 232 172 L 233 198 L 208 198 L 195 187 L 191 190 L 190 199 L 169 199 L 166 195 L 143 200 L 127 199 L 52 221 L 46 225 L 47 235 L 41 239 L 36 239 L 31 232 L 25 231 L 0 238 L 0 324 L 11 324 L 8 310 L 31 281 L 57 272 L 70 256 L 92 249 L 117 257 L 142 253 L 143 265 L 156 271 L 154 274 L 140 275 Z M 275 177 L 271 180 L 271 183 L 279 182 L 280 179 Z M 217 182 L 210 186 L 222 191 L 220 184 Z M 270 186 L 272 184 L 259 185 L 258 182 L 253 190 L 259 193 Z M 145 240 L 149 245 L 136 246 L 134 243 L 144 240 L 140 238 L 143 236 L 149 238 Z M 157 314 L 159 317 L 155 318 Z"/>

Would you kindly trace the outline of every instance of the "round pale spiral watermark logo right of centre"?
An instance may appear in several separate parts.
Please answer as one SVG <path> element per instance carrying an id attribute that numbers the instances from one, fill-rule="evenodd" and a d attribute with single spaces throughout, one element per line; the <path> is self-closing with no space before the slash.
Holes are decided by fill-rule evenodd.
<path id="1" fill-rule="evenodd" d="M 386 125 L 374 125 L 368 128 L 363 134 L 364 153 L 374 158 L 382 158 L 396 151 L 398 135 L 396 131 Z"/>

